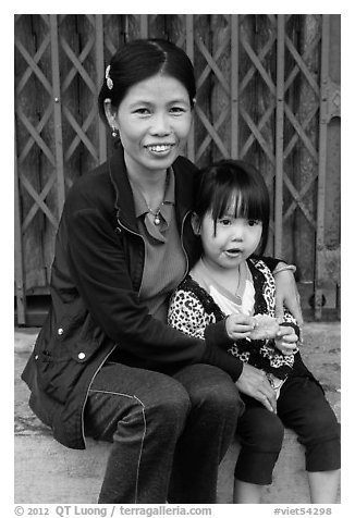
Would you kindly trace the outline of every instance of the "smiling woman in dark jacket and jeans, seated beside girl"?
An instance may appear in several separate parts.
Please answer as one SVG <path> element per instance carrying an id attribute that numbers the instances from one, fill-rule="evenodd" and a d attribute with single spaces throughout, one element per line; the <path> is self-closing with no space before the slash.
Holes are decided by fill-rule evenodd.
<path id="1" fill-rule="evenodd" d="M 224 322 L 205 340 L 166 323 L 168 297 L 199 256 L 197 170 L 180 156 L 195 94 L 191 61 L 168 41 L 132 41 L 112 58 L 99 110 L 120 144 L 68 196 L 51 309 L 23 373 L 58 441 L 113 442 L 99 503 L 216 502 L 241 410 L 234 381 L 274 406 L 262 373 L 219 348 Z M 277 278 L 292 300 L 293 276 Z"/>

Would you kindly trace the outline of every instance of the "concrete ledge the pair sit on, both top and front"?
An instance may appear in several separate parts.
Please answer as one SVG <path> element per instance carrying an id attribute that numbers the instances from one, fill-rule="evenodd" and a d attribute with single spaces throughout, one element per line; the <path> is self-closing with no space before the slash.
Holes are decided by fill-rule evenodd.
<path id="1" fill-rule="evenodd" d="M 29 392 L 20 377 L 38 331 L 38 328 L 16 328 L 14 332 L 14 502 L 96 503 L 109 445 L 89 441 L 86 451 L 65 448 L 52 440 L 50 430 L 28 407 Z M 307 322 L 302 354 L 304 361 L 321 382 L 340 419 L 340 322 Z M 267 490 L 265 503 L 309 502 L 301 448 L 290 431 L 277 465 L 276 481 Z M 220 503 L 231 503 L 232 498 L 231 470 L 235 446 L 232 449 L 233 454 L 228 455 L 221 470 Z"/>

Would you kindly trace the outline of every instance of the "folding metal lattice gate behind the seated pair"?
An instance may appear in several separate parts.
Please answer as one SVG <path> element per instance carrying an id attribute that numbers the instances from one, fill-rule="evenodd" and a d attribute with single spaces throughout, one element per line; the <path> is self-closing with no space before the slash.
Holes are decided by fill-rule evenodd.
<path id="1" fill-rule="evenodd" d="M 330 74 L 335 15 L 16 15 L 15 296 L 48 293 L 54 234 L 77 176 L 107 159 L 96 98 L 127 39 L 162 37 L 191 57 L 198 88 L 186 155 L 197 165 L 252 161 L 272 199 L 268 251 L 322 292 L 340 285 L 340 74 Z M 335 143 L 335 144 L 334 144 Z M 335 152 L 336 155 L 336 152 Z M 329 171 L 331 171 L 329 173 Z"/>

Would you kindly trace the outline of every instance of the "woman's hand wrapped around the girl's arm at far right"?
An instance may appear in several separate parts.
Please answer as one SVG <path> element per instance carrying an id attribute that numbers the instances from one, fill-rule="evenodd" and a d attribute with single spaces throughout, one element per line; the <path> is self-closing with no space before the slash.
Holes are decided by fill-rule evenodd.
<path id="1" fill-rule="evenodd" d="M 301 310 L 301 297 L 296 286 L 296 281 L 291 270 L 282 270 L 274 273 L 276 283 L 276 317 L 283 321 L 283 307 L 285 306 L 297 321 L 298 326 L 303 325 Z"/>

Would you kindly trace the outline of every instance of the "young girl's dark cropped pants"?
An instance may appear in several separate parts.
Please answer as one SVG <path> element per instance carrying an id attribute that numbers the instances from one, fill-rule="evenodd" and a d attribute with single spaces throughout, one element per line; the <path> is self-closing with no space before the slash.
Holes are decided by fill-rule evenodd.
<path id="1" fill-rule="evenodd" d="M 305 446 L 307 471 L 340 468 L 340 425 L 319 383 L 306 377 L 290 378 L 281 387 L 278 412 L 243 395 L 245 411 L 238 420 L 241 453 L 235 478 L 254 484 L 270 484 L 281 451 L 284 427 L 291 428 Z"/>

